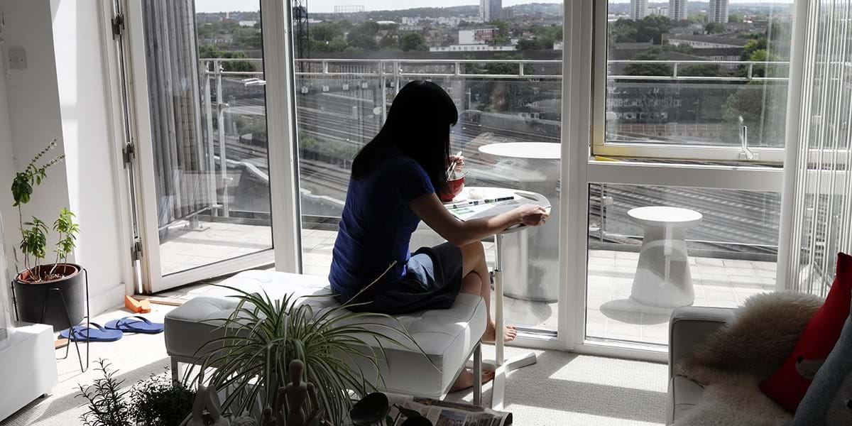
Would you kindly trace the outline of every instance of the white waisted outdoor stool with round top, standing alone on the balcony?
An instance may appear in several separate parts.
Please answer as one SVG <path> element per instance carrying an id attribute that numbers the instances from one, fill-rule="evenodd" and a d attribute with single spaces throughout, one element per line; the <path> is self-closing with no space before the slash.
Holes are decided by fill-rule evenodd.
<path id="1" fill-rule="evenodd" d="M 686 232 L 701 214 L 676 207 L 640 207 L 627 212 L 644 228 L 639 266 L 630 297 L 643 305 L 676 308 L 695 301 Z"/>

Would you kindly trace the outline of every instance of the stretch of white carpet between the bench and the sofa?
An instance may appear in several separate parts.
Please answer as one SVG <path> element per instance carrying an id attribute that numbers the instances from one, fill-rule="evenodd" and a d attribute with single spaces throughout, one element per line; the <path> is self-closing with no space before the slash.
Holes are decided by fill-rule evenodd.
<path id="1" fill-rule="evenodd" d="M 527 349 L 506 348 L 506 356 Z M 625 425 L 665 423 L 668 366 L 557 351 L 533 351 L 538 363 L 511 371 L 505 411 L 519 426 Z M 493 347 L 483 350 L 493 358 Z M 450 394 L 470 401 L 473 393 Z M 491 385 L 483 393 L 491 401 Z"/>

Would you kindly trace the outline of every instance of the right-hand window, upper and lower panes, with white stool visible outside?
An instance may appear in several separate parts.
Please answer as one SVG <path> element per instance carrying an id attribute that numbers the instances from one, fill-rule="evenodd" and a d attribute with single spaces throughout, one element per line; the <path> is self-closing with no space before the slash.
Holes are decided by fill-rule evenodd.
<path id="1" fill-rule="evenodd" d="M 595 12 L 579 343 L 662 352 L 673 309 L 776 290 L 793 9 Z"/>

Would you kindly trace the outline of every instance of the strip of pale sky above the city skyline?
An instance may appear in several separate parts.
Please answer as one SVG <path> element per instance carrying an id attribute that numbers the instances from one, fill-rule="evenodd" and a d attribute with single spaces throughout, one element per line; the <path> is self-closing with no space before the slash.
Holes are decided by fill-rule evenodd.
<path id="1" fill-rule="evenodd" d="M 287 0 L 283 0 L 287 1 Z M 449 6 L 478 5 L 475 0 L 305 0 L 308 12 L 330 13 L 335 6 L 363 5 L 366 10 L 394 10 L 419 7 L 446 8 Z M 651 3 L 661 0 L 649 0 Z M 665 1 L 665 0 L 662 0 Z M 706 0 L 705 0 L 706 1 Z M 611 3 L 630 3 L 630 0 L 610 0 Z M 731 3 L 792 3 L 792 0 L 730 0 Z M 503 0 L 503 5 L 514 6 L 525 3 L 562 3 L 562 0 Z M 226 12 L 232 10 L 251 11 L 260 9 L 260 0 L 195 0 L 197 12 Z"/>

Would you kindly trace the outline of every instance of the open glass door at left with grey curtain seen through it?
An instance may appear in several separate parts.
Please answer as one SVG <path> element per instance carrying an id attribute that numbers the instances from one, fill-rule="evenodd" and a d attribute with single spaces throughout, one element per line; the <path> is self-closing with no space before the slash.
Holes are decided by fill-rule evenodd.
<path id="1" fill-rule="evenodd" d="M 260 3 L 240 6 L 130 5 L 147 291 L 273 262 Z"/>

